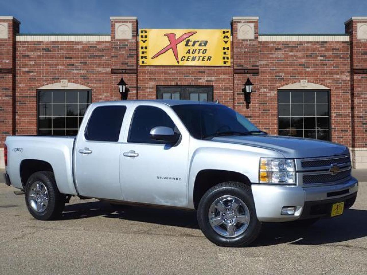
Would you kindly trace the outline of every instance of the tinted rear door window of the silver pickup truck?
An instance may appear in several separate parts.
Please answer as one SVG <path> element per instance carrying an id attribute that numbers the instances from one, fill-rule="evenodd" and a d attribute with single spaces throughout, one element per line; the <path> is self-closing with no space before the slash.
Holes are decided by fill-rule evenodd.
<path id="1" fill-rule="evenodd" d="M 86 139 L 118 141 L 125 112 L 126 106 L 101 106 L 95 108 L 88 121 L 85 132 Z"/>

